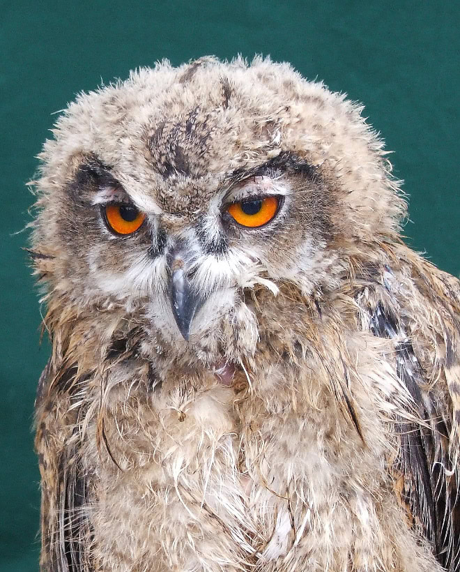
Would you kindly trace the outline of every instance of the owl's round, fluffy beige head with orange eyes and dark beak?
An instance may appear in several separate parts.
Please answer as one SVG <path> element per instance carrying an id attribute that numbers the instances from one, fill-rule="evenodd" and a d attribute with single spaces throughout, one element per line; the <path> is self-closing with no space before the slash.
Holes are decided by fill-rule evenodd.
<path id="1" fill-rule="evenodd" d="M 40 154 L 49 306 L 107 338 L 138 324 L 160 353 L 254 352 L 263 308 L 282 323 L 277 299 L 334 291 L 397 237 L 404 201 L 361 111 L 260 58 L 164 61 L 82 93 Z"/>

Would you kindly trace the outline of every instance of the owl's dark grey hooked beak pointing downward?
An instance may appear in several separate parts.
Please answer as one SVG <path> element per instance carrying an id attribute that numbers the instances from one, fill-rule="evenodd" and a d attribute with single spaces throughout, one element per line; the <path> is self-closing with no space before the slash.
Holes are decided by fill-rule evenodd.
<path id="1" fill-rule="evenodd" d="M 172 253 L 169 273 L 169 299 L 177 327 L 185 341 L 190 339 L 192 319 L 203 306 L 204 299 L 192 289 L 180 250 Z"/>

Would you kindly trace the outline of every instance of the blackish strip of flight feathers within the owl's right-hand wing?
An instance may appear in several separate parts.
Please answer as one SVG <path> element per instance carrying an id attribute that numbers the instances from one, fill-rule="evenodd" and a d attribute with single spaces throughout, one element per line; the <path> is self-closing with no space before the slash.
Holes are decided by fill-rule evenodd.
<path id="1" fill-rule="evenodd" d="M 375 336 L 397 339 L 404 329 L 397 317 L 378 303 L 371 317 Z M 448 345 L 448 344 L 447 344 Z M 460 507 L 457 475 L 446 474 L 450 469 L 448 444 L 450 427 L 443 416 L 443 405 L 431 390 L 427 390 L 422 370 L 411 340 L 396 345 L 397 375 L 406 385 L 417 404 L 420 419 L 427 426 L 397 423 L 399 455 L 394 462 L 397 472 L 404 475 L 404 502 L 434 549 L 438 562 L 447 570 L 460 570 Z M 447 353 L 447 348 L 446 348 Z M 422 389 L 423 388 L 423 389 Z"/>

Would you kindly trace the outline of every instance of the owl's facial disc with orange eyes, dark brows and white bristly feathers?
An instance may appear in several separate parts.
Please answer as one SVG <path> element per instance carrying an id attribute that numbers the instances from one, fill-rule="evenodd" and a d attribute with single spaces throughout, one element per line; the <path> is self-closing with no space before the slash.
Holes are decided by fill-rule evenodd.
<path id="1" fill-rule="evenodd" d="M 171 202 L 166 193 L 160 202 L 154 191 L 123 186 L 95 158 L 84 160 L 59 216 L 66 248 L 75 253 L 66 261 L 66 273 L 78 277 L 73 294 L 129 311 L 144 307 L 169 340 L 198 341 L 243 303 L 246 290 L 259 284 L 277 294 L 277 281 L 295 280 L 323 253 L 330 223 L 328 190 L 317 193 L 319 186 L 308 163 L 283 153 L 221 176 L 171 176 Z"/>

